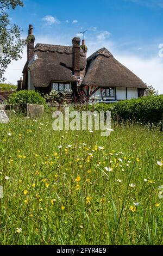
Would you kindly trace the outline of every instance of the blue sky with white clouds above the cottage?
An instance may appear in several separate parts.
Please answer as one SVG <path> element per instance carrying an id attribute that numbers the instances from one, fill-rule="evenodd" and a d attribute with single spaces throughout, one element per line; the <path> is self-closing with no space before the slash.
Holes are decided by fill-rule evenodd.
<path id="1" fill-rule="evenodd" d="M 71 45 L 72 38 L 87 29 L 88 55 L 108 48 L 144 82 L 163 93 L 163 57 L 159 57 L 163 0 L 25 0 L 24 8 L 10 11 L 10 17 L 23 30 L 23 37 L 33 24 L 36 42 L 47 44 Z M 25 61 L 26 50 L 21 60 L 9 66 L 9 82 L 20 78 Z"/>

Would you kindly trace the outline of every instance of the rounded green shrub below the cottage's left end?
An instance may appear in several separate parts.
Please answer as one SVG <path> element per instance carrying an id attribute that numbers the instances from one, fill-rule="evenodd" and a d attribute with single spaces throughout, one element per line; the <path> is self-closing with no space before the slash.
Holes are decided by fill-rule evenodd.
<path id="1" fill-rule="evenodd" d="M 46 100 L 34 90 L 21 90 L 13 93 L 9 96 L 8 102 L 10 104 L 30 103 L 46 106 Z"/>

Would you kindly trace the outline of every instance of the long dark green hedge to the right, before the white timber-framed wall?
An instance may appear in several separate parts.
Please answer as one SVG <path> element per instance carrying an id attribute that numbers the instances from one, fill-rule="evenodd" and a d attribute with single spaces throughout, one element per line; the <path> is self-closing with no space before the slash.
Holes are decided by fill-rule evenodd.
<path id="1" fill-rule="evenodd" d="M 90 111 L 111 111 L 112 118 L 118 120 L 131 119 L 142 123 L 158 124 L 163 118 L 163 95 L 140 97 L 110 104 L 97 103 L 82 108 Z"/>

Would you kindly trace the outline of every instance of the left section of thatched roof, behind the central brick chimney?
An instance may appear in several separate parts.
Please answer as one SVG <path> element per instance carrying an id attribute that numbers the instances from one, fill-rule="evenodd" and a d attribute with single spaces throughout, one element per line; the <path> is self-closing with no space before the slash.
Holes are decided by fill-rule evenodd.
<path id="1" fill-rule="evenodd" d="M 32 83 L 35 87 L 48 87 L 52 80 L 73 82 L 72 47 L 37 44 L 37 59 L 29 63 Z M 86 66 L 85 53 L 80 49 L 80 70 Z"/>

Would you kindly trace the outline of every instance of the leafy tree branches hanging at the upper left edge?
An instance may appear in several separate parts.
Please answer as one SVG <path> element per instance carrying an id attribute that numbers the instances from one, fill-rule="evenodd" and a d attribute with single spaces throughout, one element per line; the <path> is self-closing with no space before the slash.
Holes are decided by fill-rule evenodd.
<path id="1" fill-rule="evenodd" d="M 4 81 L 3 74 L 11 60 L 21 58 L 26 40 L 21 39 L 21 30 L 12 24 L 8 11 L 23 7 L 20 0 L 0 0 L 0 81 Z M 3 54 L 2 54 L 3 50 Z"/>

